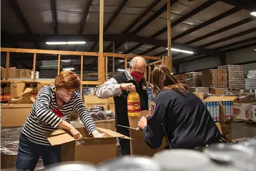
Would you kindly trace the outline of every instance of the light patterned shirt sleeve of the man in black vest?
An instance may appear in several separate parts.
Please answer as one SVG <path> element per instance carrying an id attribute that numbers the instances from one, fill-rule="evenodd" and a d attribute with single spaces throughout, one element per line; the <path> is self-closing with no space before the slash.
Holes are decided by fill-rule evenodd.
<path id="1" fill-rule="evenodd" d="M 96 90 L 96 96 L 98 98 L 110 98 L 113 96 L 121 96 L 122 95 L 122 89 L 120 87 L 120 84 L 116 81 L 116 79 L 111 78 L 104 84 L 100 85 L 98 89 Z"/>

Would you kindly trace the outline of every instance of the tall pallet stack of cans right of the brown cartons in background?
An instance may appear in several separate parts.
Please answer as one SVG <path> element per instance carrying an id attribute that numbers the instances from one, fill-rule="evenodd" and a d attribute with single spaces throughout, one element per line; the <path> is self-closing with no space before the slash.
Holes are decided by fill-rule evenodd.
<path id="1" fill-rule="evenodd" d="M 226 69 L 228 88 L 244 89 L 244 67 L 239 65 L 219 66 L 219 69 Z"/>

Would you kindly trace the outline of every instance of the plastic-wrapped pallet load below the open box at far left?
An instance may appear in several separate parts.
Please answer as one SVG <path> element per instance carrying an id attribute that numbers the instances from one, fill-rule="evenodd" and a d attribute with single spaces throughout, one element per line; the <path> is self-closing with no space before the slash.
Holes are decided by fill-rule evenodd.
<path id="1" fill-rule="evenodd" d="M 21 127 L 1 128 L 1 154 L 17 155 Z"/>

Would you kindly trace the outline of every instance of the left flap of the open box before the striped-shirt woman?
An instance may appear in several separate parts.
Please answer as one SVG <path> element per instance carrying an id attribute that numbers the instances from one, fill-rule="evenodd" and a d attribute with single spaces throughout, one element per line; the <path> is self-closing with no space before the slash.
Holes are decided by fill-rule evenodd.
<path id="1" fill-rule="evenodd" d="M 52 146 L 75 141 L 75 138 L 71 137 L 67 132 L 62 129 L 46 132 L 44 133 L 44 135 Z"/>

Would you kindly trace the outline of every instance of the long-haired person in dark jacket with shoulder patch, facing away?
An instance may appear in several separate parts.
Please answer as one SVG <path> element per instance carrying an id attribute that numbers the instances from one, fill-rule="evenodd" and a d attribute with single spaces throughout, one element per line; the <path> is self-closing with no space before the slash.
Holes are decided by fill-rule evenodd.
<path id="1" fill-rule="evenodd" d="M 167 67 L 154 68 L 151 85 L 154 98 L 149 114 L 138 122 L 149 147 L 158 149 L 165 136 L 169 140 L 167 149 L 203 149 L 221 140 L 205 104 L 188 92 L 186 85 L 178 84 Z"/>

